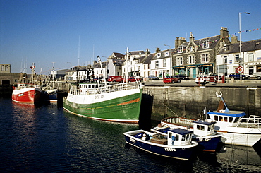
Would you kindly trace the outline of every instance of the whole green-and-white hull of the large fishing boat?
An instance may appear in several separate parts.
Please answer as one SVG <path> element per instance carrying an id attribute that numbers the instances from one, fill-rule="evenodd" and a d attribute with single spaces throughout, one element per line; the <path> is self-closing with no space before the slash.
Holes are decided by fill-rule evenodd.
<path id="1" fill-rule="evenodd" d="M 126 93 L 126 92 L 125 92 Z M 63 108 L 83 117 L 104 121 L 138 123 L 142 89 L 63 98 Z"/>

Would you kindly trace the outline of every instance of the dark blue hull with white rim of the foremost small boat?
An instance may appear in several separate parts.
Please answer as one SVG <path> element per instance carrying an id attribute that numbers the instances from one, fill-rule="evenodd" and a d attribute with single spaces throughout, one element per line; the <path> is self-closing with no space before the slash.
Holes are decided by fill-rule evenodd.
<path id="1" fill-rule="evenodd" d="M 140 148 L 147 152 L 153 153 L 155 155 L 161 155 L 164 157 L 171 157 L 179 160 L 189 160 L 190 157 L 196 150 L 198 143 L 194 143 L 193 146 L 175 146 L 175 145 L 162 145 L 157 143 L 152 143 L 144 141 L 128 133 L 123 133 L 125 136 L 126 143 Z"/>

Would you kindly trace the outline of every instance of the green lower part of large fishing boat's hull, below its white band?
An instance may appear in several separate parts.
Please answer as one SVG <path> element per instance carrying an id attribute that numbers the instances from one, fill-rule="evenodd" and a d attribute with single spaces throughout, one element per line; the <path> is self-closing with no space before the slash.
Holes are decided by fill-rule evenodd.
<path id="1" fill-rule="evenodd" d="M 65 97 L 63 108 L 73 114 L 92 119 L 138 123 L 141 98 L 142 89 L 140 89 L 140 93 L 93 104 L 78 104 L 68 101 Z"/>

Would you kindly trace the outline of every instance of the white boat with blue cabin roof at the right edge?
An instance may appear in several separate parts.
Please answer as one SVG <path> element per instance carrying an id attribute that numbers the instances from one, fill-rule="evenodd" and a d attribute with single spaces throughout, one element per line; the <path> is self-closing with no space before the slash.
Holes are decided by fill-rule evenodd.
<path id="1" fill-rule="evenodd" d="M 214 129 L 217 133 L 221 133 L 224 143 L 231 145 L 253 146 L 261 139 L 261 117 L 250 115 L 245 117 L 243 111 L 229 111 L 222 93 L 217 97 L 221 97 L 219 109 L 214 112 L 207 112 L 211 121 L 215 121 Z M 224 109 L 225 108 L 225 109 Z"/>

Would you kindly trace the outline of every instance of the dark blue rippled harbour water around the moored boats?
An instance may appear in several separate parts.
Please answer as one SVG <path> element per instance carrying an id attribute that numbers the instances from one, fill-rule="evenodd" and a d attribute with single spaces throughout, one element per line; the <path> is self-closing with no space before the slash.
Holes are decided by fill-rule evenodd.
<path id="1" fill-rule="evenodd" d="M 183 161 L 126 145 L 137 124 L 78 117 L 62 105 L 24 105 L 0 97 L 1 172 L 260 172 L 260 145 L 226 145 Z"/>

